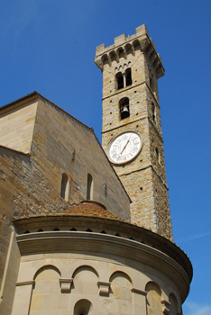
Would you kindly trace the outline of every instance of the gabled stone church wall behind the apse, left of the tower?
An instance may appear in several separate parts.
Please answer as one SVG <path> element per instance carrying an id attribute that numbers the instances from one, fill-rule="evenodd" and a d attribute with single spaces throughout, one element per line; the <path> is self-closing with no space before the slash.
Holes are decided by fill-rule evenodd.
<path id="1" fill-rule="evenodd" d="M 93 130 L 40 94 L 2 107 L 0 128 L 0 312 L 9 315 L 20 261 L 9 249 L 16 246 L 13 217 L 62 211 L 86 200 L 88 174 L 93 177 L 93 199 L 116 217 L 130 220 L 130 199 Z M 63 173 L 69 180 L 67 200 L 61 196 Z M 4 279 L 12 287 L 5 287 Z"/>

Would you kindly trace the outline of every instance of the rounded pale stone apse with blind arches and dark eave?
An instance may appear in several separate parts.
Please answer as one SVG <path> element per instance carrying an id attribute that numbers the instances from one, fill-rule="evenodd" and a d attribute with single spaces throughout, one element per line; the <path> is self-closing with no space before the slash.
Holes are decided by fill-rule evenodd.
<path id="1" fill-rule="evenodd" d="M 22 262 L 12 314 L 27 303 L 34 315 L 74 313 L 79 301 L 84 310 L 84 301 L 91 302 L 88 314 L 161 314 L 169 299 L 175 302 L 172 311 L 180 313 L 192 277 L 188 257 L 149 229 L 103 217 L 103 212 L 96 218 L 97 208 L 89 216 L 89 206 L 86 211 L 79 205 L 73 213 L 14 220 Z M 60 230 L 52 230 L 53 221 Z M 43 231 L 36 232 L 40 224 Z M 71 226 L 76 229 L 69 230 Z M 105 232 L 99 233 L 102 228 Z M 23 229 L 32 230 L 19 234 Z M 69 289 L 64 292 L 61 283 Z"/>

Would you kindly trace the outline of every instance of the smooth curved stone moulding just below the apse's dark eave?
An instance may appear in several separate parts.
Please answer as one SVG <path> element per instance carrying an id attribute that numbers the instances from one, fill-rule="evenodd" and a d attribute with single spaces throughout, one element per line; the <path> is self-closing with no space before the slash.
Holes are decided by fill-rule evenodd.
<path id="1" fill-rule="evenodd" d="M 81 231 L 37 232 L 17 235 L 16 239 L 24 257 L 57 252 L 66 257 L 66 253 L 81 253 L 91 254 L 96 260 L 113 259 L 138 270 L 144 266 L 148 273 L 157 270 L 170 278 L 178 286 L 183 301 L 188 295 L 190 280 L 184 268 L 161 250 L 132 239 Z"/>

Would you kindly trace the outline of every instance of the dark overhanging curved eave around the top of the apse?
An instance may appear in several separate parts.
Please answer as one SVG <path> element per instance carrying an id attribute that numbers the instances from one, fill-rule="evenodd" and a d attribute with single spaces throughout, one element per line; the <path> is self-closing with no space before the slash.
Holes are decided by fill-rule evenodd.
<path id="1" fill-rule="evenodd" d="M 28 234 L 17 235 L 17 239 L 20 242 L 34 238 L 34 235 L 36 239 L 43 238 L 45 233 L 52 238 L 57 238 L 59 235 L 66 235 L 59 233 L 68 233 L 67 236 L 69 236 L 69 238 L 73 235 L 77 236 L 78 233 L 82 233 L 86 238 L 89 238 L 89 236 L 96 233 L 99 239 L 104 235 L 102 233 L 107 233 L 105 235 L 110 235 L 111 237 L 118 234 L 121 237 L 117 237 L 116 239 L 124 238 L 128 240 L 128 238 L 130 238 L 135 244 L 145 244 L 149 247 L 154 247 L 168 257 L 171 257 L 185 270 L 189 282 L 191 282 L 192 279 L 191 263 L 187 255 L 176 244 L 152 232 L 150 229 L 144 229 L 125 221 L 100 218 L 92 216 L 91 213 L 88 216 L 85 214 L 80 215 L 79 213 L 78 215 L 71 215 L 71 213 L 51 213 L 48 216 L 14 220 L 14 226 L 19 234 L 23 233 L 26 229 L 30 231 Z M 53 231 L 55 226 L 57 226 L 59 230 Z M 75 230 L 77 229 L 77 232 L 74 231 L 72 227 L 74 227 Z M 43 232 L 34 233 L 34 231 L 40 228 L 43 229 Z M 86 231 L 87 229 L 91 229 L 92 231 L 88 232 Z"/>

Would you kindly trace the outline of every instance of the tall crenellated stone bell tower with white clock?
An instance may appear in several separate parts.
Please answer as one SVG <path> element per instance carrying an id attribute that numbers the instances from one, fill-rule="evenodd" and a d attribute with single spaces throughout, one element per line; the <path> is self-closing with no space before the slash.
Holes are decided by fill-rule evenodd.
<path id="1" fill-rule="evenodd" d="M 161 131 L 160 55 L 146 26 L 96 48 L 103 73 L 103 148 L 131 203 L 132 223 L 172 240 Z"/>

